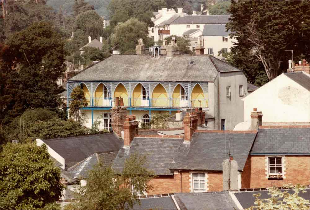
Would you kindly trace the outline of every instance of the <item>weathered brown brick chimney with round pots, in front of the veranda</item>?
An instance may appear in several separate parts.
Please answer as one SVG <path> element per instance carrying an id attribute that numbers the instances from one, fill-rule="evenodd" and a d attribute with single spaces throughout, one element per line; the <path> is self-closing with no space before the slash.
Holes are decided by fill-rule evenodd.
<path id="1" fill-rule="evenodd" d="M 127 115 L 127 108 L 118 105 L 111 109 L 111 113 L 113 132 L 120 138 L 122 136 L 123 125 Z"/>

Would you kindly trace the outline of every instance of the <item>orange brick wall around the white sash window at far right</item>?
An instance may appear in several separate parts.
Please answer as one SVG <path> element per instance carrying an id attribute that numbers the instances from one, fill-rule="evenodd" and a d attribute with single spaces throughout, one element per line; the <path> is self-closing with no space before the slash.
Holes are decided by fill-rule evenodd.
<path id="1" fill-rule="evenodd" d="M 283 180 L 268 180 L 266 178 L 266 156 L 251 155 L 242 173 L 242 188 L 260 188 L 270 186 L 283 186 L 284 184 L 310 183 L 310 156 L 289 155 L 285 156 L 285 178 Z M 250 164 L 250 166 L 248 166 Z M 248 167 L 247 167 L 248 166 Z M 248 177 L 250 174 L 250 177 Z M 247 178 L 246 178 L 247 176 Z"/>

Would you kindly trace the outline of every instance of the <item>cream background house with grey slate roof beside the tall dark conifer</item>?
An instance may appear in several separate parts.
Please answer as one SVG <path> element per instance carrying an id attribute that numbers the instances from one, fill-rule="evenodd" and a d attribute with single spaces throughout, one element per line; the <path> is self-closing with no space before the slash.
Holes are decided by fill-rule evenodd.
<path id="1" fill-rule="evenodd" d="M 211 16 L 211 15 L 210 15 Z M 226 31 L 225 24 L 204 25 L 202 35 L 199 37 L 198 45 L 205 48 L 205 54 L 218 56 L 218 52 L 224 49 L 230 52 L 230 48 L 237 43 L 236 37 L 229 37 L 230 30 Z"/>

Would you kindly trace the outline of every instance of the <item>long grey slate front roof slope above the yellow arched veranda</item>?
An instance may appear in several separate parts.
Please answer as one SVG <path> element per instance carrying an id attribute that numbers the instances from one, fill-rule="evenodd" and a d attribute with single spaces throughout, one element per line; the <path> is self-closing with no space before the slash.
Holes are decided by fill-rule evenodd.
<path id="1" fill-rule="evenodd" d="M 194 65 L 188 65 L 195 61 Z M 217 61 L 219 69 L 231 66 Z M 239 70 L 240 71 L 240 70 Z M 112 55 L 90 66 L 69 81 L 214 81 L 218 71 L 206 55 Z"/>

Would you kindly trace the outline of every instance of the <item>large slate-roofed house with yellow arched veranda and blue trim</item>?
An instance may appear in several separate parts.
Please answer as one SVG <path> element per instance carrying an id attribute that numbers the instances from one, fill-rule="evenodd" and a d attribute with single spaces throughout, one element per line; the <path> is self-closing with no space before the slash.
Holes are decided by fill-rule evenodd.
<path id="1" fill-rule="evenodd" d="M 112 55 L 68 80 L 68 108 L 78 85 L 89 101 L 81 109 L 85 126 L 98 120 L 101 129 L 111 130 L 111 109 L 118 99 L 140 123 L 148 124 L 153 114 L 194 107 L 213 116 L 210 129 L 232 130 L 243 121 L 241 99 L 248 93 L 241 70 L 212 56 L 178 55 L 175 40 L 165 46 L 166 55 L 161 55 L 161 46 L 144 54 L 142 42 L 136 55 Z"/>

